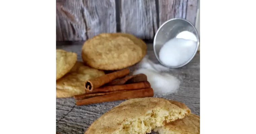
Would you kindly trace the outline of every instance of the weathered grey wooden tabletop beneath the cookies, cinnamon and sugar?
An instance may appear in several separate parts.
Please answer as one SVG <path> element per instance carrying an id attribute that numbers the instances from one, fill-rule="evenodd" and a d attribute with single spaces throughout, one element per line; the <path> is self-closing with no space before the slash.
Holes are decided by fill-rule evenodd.
<path id="1" fill-rule="evenodd" d="M 82 43 L 56 46 L 56 49 L 76 52 L 78 61 L 82 61 L 81 48 Z M 147 55 L 153 62 L 158 63 L 152 44 L 148 44 Z M 136 65 L 130 67 L 131 71 L 135 69 L 137 69 Z M 185 103 L 192 113 L 200 116 L 200 54 L 197 53 L 187 65 L 171 69 L 169 73 L 181 81 L 178 92 L 167 96 L 155 95 L 155 97 L 164 97 Z M 123 101 L 75 106 L 74 98 L 56 98 L 56 132 L 83 134 L 93 121 Z"/>

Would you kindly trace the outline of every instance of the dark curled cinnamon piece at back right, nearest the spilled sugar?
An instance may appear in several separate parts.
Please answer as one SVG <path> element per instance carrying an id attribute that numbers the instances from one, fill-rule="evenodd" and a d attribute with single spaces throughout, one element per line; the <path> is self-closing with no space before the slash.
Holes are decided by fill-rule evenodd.
<path id="1" fill-rule="evenodd" d="M 107 83 L 106 86 L 131 84 L 131 83 L 137 83 L 137 82 L 143 82 L 143 81 L 147 81 L 147 75 L 137 74 L 132 76 L 126 76 L 121 79 L 116 79 L 114 81 Z"/>

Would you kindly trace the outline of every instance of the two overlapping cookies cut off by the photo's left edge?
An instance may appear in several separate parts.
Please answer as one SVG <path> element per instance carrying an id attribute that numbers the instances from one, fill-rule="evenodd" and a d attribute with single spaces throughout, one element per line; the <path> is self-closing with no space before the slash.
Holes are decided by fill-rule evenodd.
<path id="1" fill-rule="evenodd" d="M 77 61 L 77 54 L 56 50 L 56 97 L 72 97 L 86 93 L 84 82 L 105 73 Z"/>

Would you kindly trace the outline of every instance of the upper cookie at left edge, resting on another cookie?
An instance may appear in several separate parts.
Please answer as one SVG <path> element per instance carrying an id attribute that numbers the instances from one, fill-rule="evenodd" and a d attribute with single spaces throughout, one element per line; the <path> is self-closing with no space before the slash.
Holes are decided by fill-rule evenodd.
<path id="1" fill-rule="evenodd" d="M 76 61 L 76 53 L 56 49 L 56 80 L 68 73 Z"/>

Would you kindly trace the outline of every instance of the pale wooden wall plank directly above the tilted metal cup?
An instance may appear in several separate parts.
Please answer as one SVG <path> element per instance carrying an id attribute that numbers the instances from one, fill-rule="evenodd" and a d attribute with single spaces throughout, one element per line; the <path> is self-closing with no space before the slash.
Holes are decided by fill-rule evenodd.
<path id="1" fill-rule="evenodd" d="M 171 18 L 183 18 L 195 24 L 197 0 L 159 0 L 159 25 Z"/>

